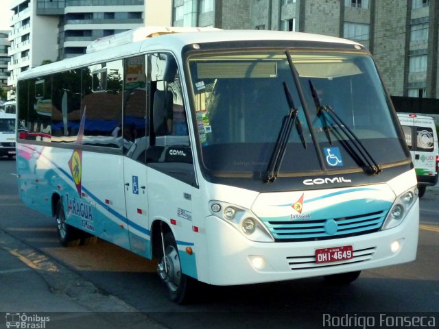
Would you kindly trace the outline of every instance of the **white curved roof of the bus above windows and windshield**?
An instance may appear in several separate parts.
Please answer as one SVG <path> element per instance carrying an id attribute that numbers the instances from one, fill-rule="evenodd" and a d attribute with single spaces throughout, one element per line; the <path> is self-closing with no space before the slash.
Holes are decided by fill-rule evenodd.
<path id="1" fill-rule="evenodd" d="M 133 30 L 134 31 L 134 30 Z M 135 30 L 137 31 L 137 29 Z M 124 33 L 124 32 L 122 32 Z M 27 79 L 29 77 L 36 77 L 49 73 L 66 71 L 75 69 L 76 67 L 97 64 L 106 62 L 108 60 L 115 60 L 126 56 L 135 56 L 135 54 L 143 51 L 171 51 L 173 53 L 180 53 L 182 47 L 191 44 L 202 44 L 204 42 L 227 42 L 227 41 L 247 41 L 247 40 L 287 40 L 287 41 L 307 41 L 307 42 L 324 42 L 339 45 L 361 46 L 359 43 L 336 38 L 332 36 L 322 36 L 319 34 L 308 34 L 302 32 L 281 32 L 281 31 L 267 31 L 267 30 L 222 30 L 222 29 L 197 29 L 192 28 L 191 32 L 185 32 L 184 29 L 178 33 L 156 33 L 155 37 L 144 37 L 145 40 L 127 41 L 123 45 L 115 47 L 95 47 L 97 51 L 90 51 L 82 56 L 69 58 L 60 62 L 37 66 L 34 69 L 24 71 L 19 75 L 19 80 Z M 129 39 L 129 38 L 128 38 Z M 142 39 L 142 38 L 140 38 Z M 111 38 L 107 40 L 108 45 Z M 98 45 L 96 42 L 95 45 Z M 362 46 L 361 46 L 362 47 Z M 93 46 L 91 46 L 93 49 Z"/>

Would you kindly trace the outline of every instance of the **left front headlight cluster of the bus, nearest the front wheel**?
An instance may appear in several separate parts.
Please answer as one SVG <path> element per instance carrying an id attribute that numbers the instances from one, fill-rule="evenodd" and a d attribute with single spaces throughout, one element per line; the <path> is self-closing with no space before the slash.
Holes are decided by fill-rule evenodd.
<path id="1" fill-rule="evenodd" d="M 213 200 L 209 202 L 209 209 L 213 216 L 230 224 L 251 241 L 274 241 L 272 234 L 270 234 L 265 225 L 263 225 L 250 209 L 235 204 L 228 204 L 227 202 Z M 221 209 L 224 210 L 221 212 Z"/>

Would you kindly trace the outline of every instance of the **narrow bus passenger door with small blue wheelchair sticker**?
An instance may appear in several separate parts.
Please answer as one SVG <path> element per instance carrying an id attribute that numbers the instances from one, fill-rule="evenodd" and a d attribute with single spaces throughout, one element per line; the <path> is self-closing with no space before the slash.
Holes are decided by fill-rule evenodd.
<path id="1" fill-rule="evenodd" d="M 145 56 L 125 59 L 123 95 L 124 184 L 130 249 L 150 258 L 150 231 L 147 203 L 146 149 L 149 144 L 147 125 L 147 85 Z"/>

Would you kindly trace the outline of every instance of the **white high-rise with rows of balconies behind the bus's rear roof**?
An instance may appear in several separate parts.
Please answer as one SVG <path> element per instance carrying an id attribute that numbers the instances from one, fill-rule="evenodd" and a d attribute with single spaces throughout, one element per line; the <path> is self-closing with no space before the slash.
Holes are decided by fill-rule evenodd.
<path id="1" fill-rule="evenodd" d="M 85 53 L 103 36 L 143 26 L 144 0 L 12 0 L 8 85 L 21 71 Z"/>

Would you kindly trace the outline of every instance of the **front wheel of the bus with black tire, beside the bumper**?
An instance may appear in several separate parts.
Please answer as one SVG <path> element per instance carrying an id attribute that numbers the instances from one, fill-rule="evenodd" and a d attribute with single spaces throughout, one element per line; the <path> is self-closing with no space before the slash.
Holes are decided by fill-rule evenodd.
<path id="1" fill-rule="evenodd" d="M 165 287 L 165 293 L 169 300 L 177 304 L 187 303 L 191 300 L 191 291 L 193 291 L 195 280 L 181 271 L 174 235 L 167 232 L 163 240 L 165 255 L 163 255 L 162 250 L 160 263 L 157 266 L 158 276 Z"/>

